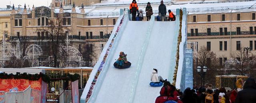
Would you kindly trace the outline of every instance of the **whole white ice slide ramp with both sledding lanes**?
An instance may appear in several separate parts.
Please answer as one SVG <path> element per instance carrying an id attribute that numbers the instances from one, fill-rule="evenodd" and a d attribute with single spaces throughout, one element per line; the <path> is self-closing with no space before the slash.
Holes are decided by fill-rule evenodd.
<path id="1" fill-rule="evenodd" d="M 176 18 L 179 17 L 177 9 Z M 152 69 L 172 82 L 180 21 L 130 21 L 120 16 L 81 96 L 81 103 L 154 103 L 161 87 L 150 87 Z M 132 63 L 128 69 L 113 64 L 120 51 Z M 90 97 L 90 98 L 89 98 Z"/>

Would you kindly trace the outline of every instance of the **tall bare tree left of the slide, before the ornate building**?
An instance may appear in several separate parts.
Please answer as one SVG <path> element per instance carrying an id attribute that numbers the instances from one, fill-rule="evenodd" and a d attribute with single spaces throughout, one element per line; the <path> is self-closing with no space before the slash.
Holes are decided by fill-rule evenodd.
<path id="1" fill-rule="evenodd" d="M 50 18 L 48 22 L 48 26 L 42 26 L 37 29 L 38 32 L 46 32 L 48 34 L 48 38 L 50 39 L 50 55 L 53 56 L 54 67 L 59 67 L 59 60 L 61 57 L 66 57 L 67 53 L 63 54 L 64 51 L 61 51 L 60 48 L 62 44 L 65 43 L 66 35 L 70 30 L 63 26 L 63 18 L 62 16 L 58 16 L 56 18 Z M 66 31 L 65 31 L 66 30 Z"/>

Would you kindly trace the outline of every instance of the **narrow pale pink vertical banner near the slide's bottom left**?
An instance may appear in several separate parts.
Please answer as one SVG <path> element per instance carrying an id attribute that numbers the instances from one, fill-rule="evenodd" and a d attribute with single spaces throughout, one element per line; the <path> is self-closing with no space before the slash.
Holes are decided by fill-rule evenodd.
<path id="1" fill-rule="evenodd" d="M 72 103 L 79 103 L 78 80 L 71 82 Z"/>

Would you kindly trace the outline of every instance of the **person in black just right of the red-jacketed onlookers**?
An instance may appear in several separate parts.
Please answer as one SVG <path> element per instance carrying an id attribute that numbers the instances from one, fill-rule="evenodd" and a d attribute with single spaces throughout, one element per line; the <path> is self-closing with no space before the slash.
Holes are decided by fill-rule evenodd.
<path id="1" fill-rule="evenodd" d="M 181 101 L 183 103 L 197 103 L 190 88 L 185 89 Z"/>

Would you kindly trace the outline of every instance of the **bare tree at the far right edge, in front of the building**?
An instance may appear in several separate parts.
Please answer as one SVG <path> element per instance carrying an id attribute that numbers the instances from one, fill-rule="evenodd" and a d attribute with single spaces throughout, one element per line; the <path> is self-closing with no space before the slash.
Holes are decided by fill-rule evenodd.
<path id="1" fill-rule="evenodd" d="M 240 48 L 231 54 L 230 67 L 236 69 L 240 75 L 250 73 L 248 71 L 254 70 L 256 65 L 256 56 L 251 53 L 250 48 Z"/>

